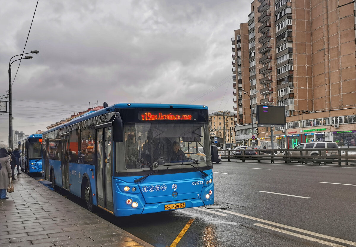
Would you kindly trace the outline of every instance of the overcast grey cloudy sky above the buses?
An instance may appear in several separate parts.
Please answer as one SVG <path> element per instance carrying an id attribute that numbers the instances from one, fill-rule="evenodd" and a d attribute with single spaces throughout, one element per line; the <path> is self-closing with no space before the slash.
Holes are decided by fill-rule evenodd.
<path id="1" fill-rule="evenodd" d="M 47 130 L 89 102 L 232 111 L 231 37 L 247 22 L 251 2 L 39 0 L 25 52 L 40 53 L 21 61 L 16 78 L 18 61 L 11 66 L 14 130 Z M 9 60 L 23 51 L 36 3 L 1 4 L 0 95 L 7 94 Z M 6 144 L 8 113 L 0 123 Z"/>

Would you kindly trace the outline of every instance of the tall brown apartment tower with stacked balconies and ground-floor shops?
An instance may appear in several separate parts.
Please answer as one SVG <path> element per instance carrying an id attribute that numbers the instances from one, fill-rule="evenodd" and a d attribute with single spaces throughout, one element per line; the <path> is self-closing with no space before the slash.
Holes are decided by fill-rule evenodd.
<path id="1" fill-rule="evenodd" d="M 274 129 L 281 147 L 324 140 L 355 146 L 355 9 L 349 0 L 251 3 L 248 22 L 232 38 L 237 145 L 251 144 L 255 107 L 265 104 L 286 108 L 286 127 Z M 270 140 L 269 128 L 252 132 Z"/>

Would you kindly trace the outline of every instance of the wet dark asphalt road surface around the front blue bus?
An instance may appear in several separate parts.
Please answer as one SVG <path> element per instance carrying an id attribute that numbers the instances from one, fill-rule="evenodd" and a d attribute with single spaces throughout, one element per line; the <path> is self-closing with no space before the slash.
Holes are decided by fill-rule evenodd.
<path id="1" fill-rule="evenodd" d="M 356 168 L 223 161 L 213 172 L 215 205 L 226 210 L 97 214 L 156 247 L 170 246 L 189 220 L 177 247 L 356 246 Z"/>

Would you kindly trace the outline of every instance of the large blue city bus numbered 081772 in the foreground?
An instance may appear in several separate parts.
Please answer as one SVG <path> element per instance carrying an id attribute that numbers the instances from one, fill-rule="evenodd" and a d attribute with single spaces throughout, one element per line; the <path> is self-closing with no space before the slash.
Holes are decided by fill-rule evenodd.
<path id="1" fill-rule="evenodd" d="M 203 148 L 203 158 L 188 158 L 191 147 Z M 214 203 L 213 148 L 206 106 L 104 103 L 43 133 L 43 176 L 90 211 L 197 207 Z"/>

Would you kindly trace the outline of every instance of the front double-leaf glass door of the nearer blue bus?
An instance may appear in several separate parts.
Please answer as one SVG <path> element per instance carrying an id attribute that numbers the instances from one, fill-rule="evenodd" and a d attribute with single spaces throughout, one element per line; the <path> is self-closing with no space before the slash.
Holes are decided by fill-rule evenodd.
<path id="1" fill-rule="evenodd" d="M 98 206 L 113 213 L 111 127 L 96 129 L 96 195 Z"/>

